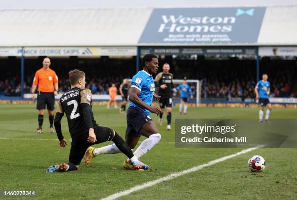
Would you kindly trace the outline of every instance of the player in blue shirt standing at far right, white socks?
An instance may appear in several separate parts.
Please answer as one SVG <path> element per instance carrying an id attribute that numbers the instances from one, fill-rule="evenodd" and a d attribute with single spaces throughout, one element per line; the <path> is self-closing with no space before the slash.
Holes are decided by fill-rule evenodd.
<path id="1" fill-rule="evenodd" d="M 259 111 L 259 122 L 263 123 L 264 107 L 267 106 L 265 122 L 270 123 L 268 120 L 272 109 L 268 98 L 270 93 L 270 83 L 267 81 L 267 74 L 263 74 L 262 78 L 263 79 L 260 80 L 255 87 L 256 99 L 259 99 L 259 104 L 261 106 Z"/>

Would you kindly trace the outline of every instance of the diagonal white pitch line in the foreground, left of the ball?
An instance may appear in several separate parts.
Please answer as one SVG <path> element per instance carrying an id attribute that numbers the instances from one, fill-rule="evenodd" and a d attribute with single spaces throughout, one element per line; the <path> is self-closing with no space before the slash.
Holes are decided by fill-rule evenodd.
<path id="1" fill-rule="evenodd" d="M 119 197 L 131 194 L 132 192 L 136 192 L 138 190 L 148 188 L 148 187 L 150 187 L 152 185 L 156 185 L 156 184 L 162 183 L 164 181 L 168 181 L 170 179 L 174 179 L 174 178 L 177 178 L 179 176 L 182 176 L 182 175 L 194 172 L 194 171 L 198 171 L 198 170 L 203 169 L 205 167 L 209 167 L 209 166 L 212 166 L 212 165 L 214 165 L 216 163 L 223 162 L 223 161 L 228 160 L 230 158 L 236 157 L 238 155 L 245 154 L 247 152 L 253 151 L 253 150 L 258 149 L 260 147 L 264 147 L 264 145 L 249 148 L 249 149 L 245 149 L 245 150 L 243 150 L 241 152 L 238 152 L 236 154 L 227 155 L 227 156 L 218 158 L 216 160 L 210 161 L 209 163 L 205 163 L 205 164 L 198 165 L 198 166 L 195 166 L 195 167 L 190 168 L 190 169 L 186 169 L 186 170 L 183 170 L 183 171 L 180 171 L 180 172 L 169 174 L 168 176 L 165 176 L 163 178 L 157 179 L 155 181 L 147 182 L 147 183 L 145 183 L 143 185 L 137 185 L 137 186 L 131 187 L 130 189 L 124 190 L 122 192 L 115 193 L 115 194 L 110 195 L 108 197 L 105 197 L 105 198 L 103 198 L 101 200 L 115 200 L 115 199 L 117 199 Z"/>

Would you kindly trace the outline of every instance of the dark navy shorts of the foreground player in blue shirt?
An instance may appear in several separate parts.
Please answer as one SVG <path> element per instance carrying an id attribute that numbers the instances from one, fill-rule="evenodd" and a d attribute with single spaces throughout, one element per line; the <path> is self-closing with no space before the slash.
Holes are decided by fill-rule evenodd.
<path id="1" fill-rule="evenodd" d="M 143 110 L 132 106 L 129 107 L 127 110 L 126 134 L 132 135 L 134 137 L 140 137 L 141 135 L 139 134 L 139 131 L 143 124 L 147 123 L 148 121 L 152 121 L 152 119 Z"/>

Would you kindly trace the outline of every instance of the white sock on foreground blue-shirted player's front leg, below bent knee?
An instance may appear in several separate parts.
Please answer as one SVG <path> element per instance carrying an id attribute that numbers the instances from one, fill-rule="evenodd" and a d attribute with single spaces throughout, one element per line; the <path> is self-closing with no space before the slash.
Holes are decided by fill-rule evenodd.
<path id="1" fill-rule="evenodd" d="M 147 139 L 143 140 L 139 147 L 135 150 L 134 155 L 140 158 L 146 154 L 153 146 L 155 146 L 161 139 L 160 133 L 150 135 Z"/>

